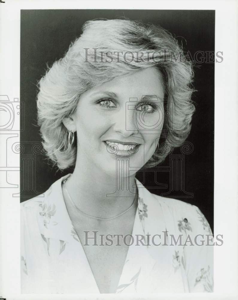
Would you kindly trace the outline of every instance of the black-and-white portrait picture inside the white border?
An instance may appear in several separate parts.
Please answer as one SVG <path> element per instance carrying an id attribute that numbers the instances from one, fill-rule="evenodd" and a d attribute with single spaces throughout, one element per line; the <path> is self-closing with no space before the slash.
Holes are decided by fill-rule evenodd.
<path id="1" fill-rule="evenodd" d="M 21 292 L 213 292 L 214 10 L 21 10 Z"/>

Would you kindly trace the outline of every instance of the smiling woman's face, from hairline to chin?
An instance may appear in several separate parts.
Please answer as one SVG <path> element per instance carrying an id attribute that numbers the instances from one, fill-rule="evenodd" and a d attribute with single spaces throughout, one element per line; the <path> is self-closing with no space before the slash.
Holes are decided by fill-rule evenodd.
<path id="1" fill-rule="evenodd" d="M 124 176 L 136 173 L 156 150 L 163 128 L 163 97 L 163 80 L 156 67 L 118 76 L 86 91 L 72 116 L 77 160 L 110 176 L 118 173 L 116 165 L 124 169 Z"/>

